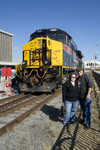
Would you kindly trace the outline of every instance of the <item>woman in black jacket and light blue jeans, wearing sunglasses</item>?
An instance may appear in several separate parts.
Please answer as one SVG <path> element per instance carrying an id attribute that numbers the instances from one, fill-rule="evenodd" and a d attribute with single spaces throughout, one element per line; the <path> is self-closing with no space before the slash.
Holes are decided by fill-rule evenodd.
<path id="1" fill-rule="evenodd" d="M 75 114 L 78 106 L 78 85 L 76 83 L 76 74 L 72 73 L 70 79 L 64 84 L 65 117 L 63 124 L 68 121 L 75 123 Z"/>

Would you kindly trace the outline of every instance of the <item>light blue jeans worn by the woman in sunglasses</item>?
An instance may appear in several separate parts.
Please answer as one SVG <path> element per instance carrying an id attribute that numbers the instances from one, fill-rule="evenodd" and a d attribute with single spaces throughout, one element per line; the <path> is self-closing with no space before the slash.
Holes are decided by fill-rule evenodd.
<path id="1" fill-rule="evenodd" d="M 75 122 L 75 114 L 78 106 L 78 100 L 75 102 L 65 101 L 65 117 L 63 124 L 67 124 L 70 120 L 72 123 Z"/>

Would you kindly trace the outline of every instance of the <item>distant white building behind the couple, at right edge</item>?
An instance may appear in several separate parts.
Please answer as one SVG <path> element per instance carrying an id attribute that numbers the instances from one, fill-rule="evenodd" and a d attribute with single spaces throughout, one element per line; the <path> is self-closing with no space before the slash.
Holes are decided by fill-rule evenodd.
<path id="1" fill-rule="evenodd" d="M 87 60 L 84 62 L 85 69 L 100 69 L 100 61 L 97 60 Z"/>

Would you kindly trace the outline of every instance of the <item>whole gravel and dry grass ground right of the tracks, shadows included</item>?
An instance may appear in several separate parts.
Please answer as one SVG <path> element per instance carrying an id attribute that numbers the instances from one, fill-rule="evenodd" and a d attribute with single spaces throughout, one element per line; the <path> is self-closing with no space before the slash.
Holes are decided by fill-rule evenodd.
<path id="1" fill-rule="evenodd" d="M 92 99 L 92 124 L 89 130 L 79 123 L 80 106 L 75 124 L 62 125 L 59 117 L 62 95 L 31 114 L 12 131 L 0 137 L 0 150 L 99 150 L 100 99 Z"/>

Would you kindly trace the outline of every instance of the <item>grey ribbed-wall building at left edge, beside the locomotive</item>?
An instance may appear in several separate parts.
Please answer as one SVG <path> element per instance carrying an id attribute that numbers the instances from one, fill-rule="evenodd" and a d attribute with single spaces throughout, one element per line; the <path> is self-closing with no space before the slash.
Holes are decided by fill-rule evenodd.
<path id="1" fill-rule="evenodd" d="M 0 30 L 0 62 L 12 62 L 13 34 Z"/>

